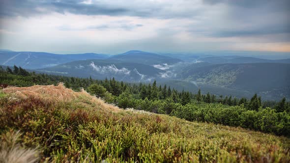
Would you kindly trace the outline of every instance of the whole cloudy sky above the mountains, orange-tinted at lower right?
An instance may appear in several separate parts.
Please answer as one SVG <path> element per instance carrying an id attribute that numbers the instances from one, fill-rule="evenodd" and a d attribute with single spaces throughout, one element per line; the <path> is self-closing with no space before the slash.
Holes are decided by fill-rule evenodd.
<path id="1" fill-rule="evenodd" d="M 290 0 L 0 0 L 0 49 L 290 52 Z"/>

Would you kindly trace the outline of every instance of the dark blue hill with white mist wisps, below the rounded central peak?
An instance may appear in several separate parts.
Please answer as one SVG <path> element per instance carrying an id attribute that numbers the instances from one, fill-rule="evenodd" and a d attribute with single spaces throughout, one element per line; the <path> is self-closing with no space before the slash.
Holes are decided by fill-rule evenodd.
<path id="1" fill-rule="evenodd" d="M 123 81 L 151 81 L 162 76 L 166 71 L 141 63 L 129 63 L 111 60 L 88 59 L 60 64 L 54 67 L 37 69 L 49 74 L 65 75 L 94 79 L 115 77 Z"/>

